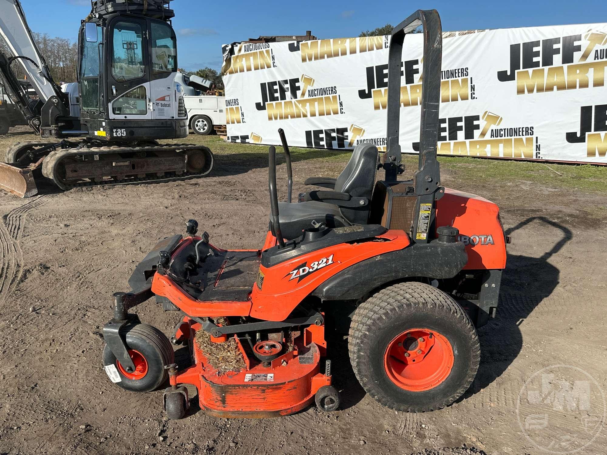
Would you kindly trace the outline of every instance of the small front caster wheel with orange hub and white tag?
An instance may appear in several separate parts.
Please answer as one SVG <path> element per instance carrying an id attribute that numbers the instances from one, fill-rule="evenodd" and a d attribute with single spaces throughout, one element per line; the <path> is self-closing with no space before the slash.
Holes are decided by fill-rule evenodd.
<path id="1" fill-rule="evenodd" d="M 148 324 L 126 326 L 121 329 L 120 335 L 125 337 L 135 371 L 127 371 L 106 345 L 103 349 L 103 365 L 106 370 L 115 368 L 118 372 L 120 381 L 117 385 L 133 392 L 150 392 L 160 387 L 169 376 L 164 365 L 170 365 L 175 360 L 171 342 L 166 335 Z"/>

